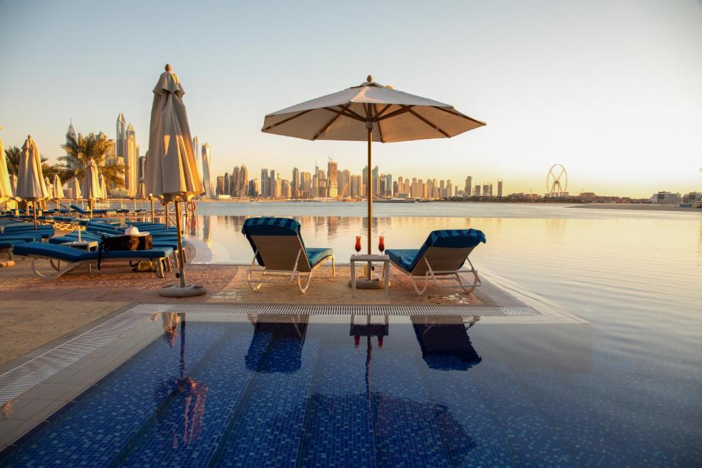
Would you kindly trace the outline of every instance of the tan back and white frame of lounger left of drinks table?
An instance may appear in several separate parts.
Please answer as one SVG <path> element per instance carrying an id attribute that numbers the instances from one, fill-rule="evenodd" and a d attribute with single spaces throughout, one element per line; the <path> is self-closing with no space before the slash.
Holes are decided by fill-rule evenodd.
<path id="1" fill-rule="evenodd" d="M 256 246 L 256 252 L 253 254 L 251 266 L 246 270 L 246 282 L 253 291 L 258 291 L 264 283 L 290 284 L 297 276 L 300 293 L 305 294 L 312 282 L 314 271 L 330 258 L 331 274 L 336 276 L 334 255 L 326 255 L 312 267 L 299 236 L 251 236 L 251 241 Z M 258 255 L 263 259 L 265 267 L 256 265 Z M 300 273 L 307 273 L 304 287 Z M 258 279 L 252 279 L 254 274 L 260 274 Z"/>

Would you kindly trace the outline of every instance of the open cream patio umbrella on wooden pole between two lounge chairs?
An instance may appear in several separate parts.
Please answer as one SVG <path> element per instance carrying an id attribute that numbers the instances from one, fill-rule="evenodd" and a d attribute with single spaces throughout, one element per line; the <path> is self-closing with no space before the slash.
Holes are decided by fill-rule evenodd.
<path id="1" fill-rule="evenodd" d="M 265 133 L 305 140 L 366 141 L 368 143 L 368 254 L 373 253 L 373 177 L 371 147 L 381 143 L 451 138 L 484 126 L 485 123 L 461 114 L 452 105 L 383 86 L 368 76 L 364 83 L 338 93 L 302 102 L 265 116 Z M 371 281 L 359 287 L 383 287 Z"/>

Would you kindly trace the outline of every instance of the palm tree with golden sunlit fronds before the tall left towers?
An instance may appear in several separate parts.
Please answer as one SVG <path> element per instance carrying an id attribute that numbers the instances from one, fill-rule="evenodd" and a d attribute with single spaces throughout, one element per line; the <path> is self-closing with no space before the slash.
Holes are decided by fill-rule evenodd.
<path id="1" fill-rule="evenodd" d="M 61 145 L 66 150 L 65 156 L 59 156 L 59 161 L 64 161 L 70 175 L 78 178 L 85 174 L 86 166 L 90 161 L 95 161 L 98 171 L 105 179 L 105 184 L 115 187 L 124 187 L 124 164 L 105 165 L 105 154 L 112 146 L 110 138 L 100 137 L 95 133 L 78 135 L 66 134 L 66 144 Z M 72 168 L 72 169 L 68 169 Z"/>

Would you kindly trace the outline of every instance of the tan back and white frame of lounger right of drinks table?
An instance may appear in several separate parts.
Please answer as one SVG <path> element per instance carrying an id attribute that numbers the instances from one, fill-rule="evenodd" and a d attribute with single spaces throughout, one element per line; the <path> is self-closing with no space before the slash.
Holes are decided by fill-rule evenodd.
<path id="1" fill-rule="evenodd" d="M 426 292 L 430 281 L 436 288 L 463 288 L 466 293 L 470 294 L 477 286 L 482 285 L 477 270 L 473 267 L 470 258 L 468 258 L 474 248 L 429 247 L 411 272 L 397 265 L 392 259 L 390 259 L 390 263 L 395 265 L 400 272 L 409 276 L 409 281 L 412 283 L 417 295 L 423 295 Z M 470 270 L 461 270 L 465 262 L 468 262 L 468 265 L 470 265 Z M 473 281 L 470 284 L 465 283 L 463 278 L 461 278 L 461 273 L 466 272 L 473 274 Z M 422 288 L 418 287 L 415 276 L 418 278 L 424 276 L 424 286 Z M 439 283 L 439 281 L 453 279 L 458 284 L 453 282 L 451 284 Z"/>

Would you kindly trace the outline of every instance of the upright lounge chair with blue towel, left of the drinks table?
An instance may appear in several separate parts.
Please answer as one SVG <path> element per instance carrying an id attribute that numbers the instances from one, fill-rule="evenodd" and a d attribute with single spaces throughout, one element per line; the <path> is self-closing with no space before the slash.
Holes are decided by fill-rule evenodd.
<path id="1" fill-rule="evenodd" d="M 292 218 L 249 218 L 241 227 L 241 233 L 249 240 L 254 252 L 251 267 L 246 270 L 246 281 L 254 291 L 259 290 L 263 283 L 292 283 L 297 275 L 300 293 L 305 294 L 314 270 L 329 259 L 331 273 L 336 274 L 331 248 L 305 247 L 300 236 L 300 223 Z M 256 268 L 256 262 L 259 268 Z M 258 280 L 251 279 L 252 274 L 259 273 Z M 309 273 L 304 288 L 300 273 Z"/>

